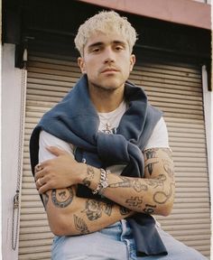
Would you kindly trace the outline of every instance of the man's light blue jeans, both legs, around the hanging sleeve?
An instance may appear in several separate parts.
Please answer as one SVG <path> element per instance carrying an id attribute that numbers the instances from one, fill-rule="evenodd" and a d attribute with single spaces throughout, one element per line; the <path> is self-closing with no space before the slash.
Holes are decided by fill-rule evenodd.
<path id="1" fill-rule="evenodd" d="M 183 245 L 158 226 L 168 255 L 136 256 L 132 229 L 126 220 L 98 232 L 75 237 L 54 237 L 52 260 L 204 260 L 196 250 Z"/>

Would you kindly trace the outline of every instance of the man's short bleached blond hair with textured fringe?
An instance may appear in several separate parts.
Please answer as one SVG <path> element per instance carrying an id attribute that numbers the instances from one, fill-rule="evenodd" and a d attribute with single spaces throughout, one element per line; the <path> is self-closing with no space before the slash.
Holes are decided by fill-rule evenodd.
<path id="1" fill-rule="evenodd" d="M 125 37 L 128 42 L 130 53 L 133 51 L 134 43 L 137 40 L 137 33 L 134 27 L 115 11 L 102 11 L 90 17 L 85 23 L 79 26 L 79 32 L 74 40 L 80 56 L 84 56 L 84 47 L 89 37 L 95 32 L 116 32 L 118 35 Z"/>

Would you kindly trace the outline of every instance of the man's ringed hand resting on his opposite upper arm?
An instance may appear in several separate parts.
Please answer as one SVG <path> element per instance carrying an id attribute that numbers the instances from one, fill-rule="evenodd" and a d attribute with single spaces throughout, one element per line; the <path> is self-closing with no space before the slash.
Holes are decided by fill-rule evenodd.
<path id="1" fill-rule="evenodd" d="M 34 178 L 39 193 L 79 183 L 79 176 L 82 172 L 87 171 L 87 166 L 84 163 L 78 163 L 72 154 L 60 150 L 58 147 L 51 146 L 46 149 L 56 158 L 35 166 Z"/>

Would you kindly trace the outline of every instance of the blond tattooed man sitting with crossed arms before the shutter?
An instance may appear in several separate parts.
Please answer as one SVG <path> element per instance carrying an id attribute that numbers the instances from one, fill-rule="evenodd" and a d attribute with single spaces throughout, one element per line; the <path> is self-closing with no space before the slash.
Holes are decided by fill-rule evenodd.
<path id="1" fill-rule="evenodd" d="M 32 133 L 54 260 L 205 259 L 152 217 L 171 212 L 173 163 L 162 113 L 127 81 L 135 41 L 112 11 L 82 24 L 75 43 L 83 76 Z"/>

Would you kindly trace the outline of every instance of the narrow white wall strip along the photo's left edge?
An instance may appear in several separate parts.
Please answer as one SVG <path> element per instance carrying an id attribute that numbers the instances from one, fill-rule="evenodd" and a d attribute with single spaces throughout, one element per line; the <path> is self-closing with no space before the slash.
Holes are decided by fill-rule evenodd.
<path id="1" fill-rule="evenodd" d="M 12 249 L 13 200 L 17 182 L 22 70 L 14 68 L 14 45 L 2 48 L 2 237 L 3 259 L 16 260 Z M 18 248 L 18 244 L 17 244 Z"/>

